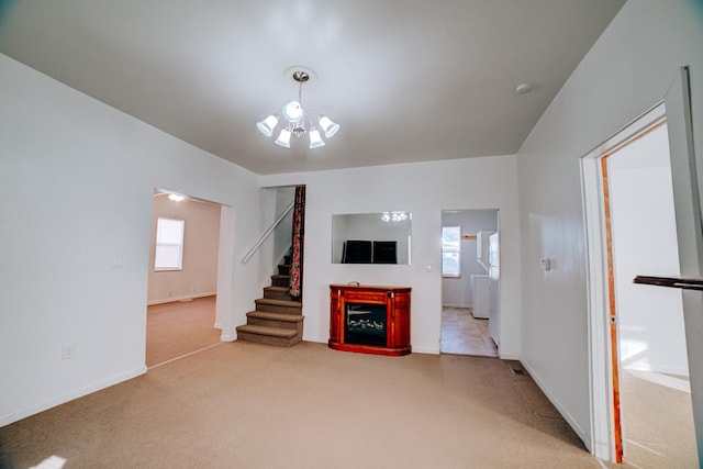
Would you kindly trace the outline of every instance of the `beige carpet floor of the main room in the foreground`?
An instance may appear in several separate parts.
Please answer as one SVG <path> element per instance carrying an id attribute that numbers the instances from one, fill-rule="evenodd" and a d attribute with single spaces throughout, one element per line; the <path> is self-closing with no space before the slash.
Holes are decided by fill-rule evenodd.
<path id="1" fill-rule="evenodd" d="M 0 428 L 26 468 L 600 468 L 496 358 L 222 343 Z M 610 465 L 609 465 L 610 466 Z"/>

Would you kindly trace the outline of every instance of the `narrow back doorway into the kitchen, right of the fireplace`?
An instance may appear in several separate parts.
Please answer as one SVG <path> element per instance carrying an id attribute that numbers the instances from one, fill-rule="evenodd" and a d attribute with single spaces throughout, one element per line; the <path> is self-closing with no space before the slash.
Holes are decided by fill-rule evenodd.
<path id="1" fill-rule="evenodd" d="M 491 257 L 489 250 L 498 210 L 443 211 L 442 230 L 439 351 L 498 357 L 498 327 L 491 327 L 498 321 L 498 253 Z"/>

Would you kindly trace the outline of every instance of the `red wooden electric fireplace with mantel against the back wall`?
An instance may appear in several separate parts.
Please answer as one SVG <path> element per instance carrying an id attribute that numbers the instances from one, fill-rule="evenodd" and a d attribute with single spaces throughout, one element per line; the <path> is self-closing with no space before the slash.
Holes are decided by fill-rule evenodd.
<path id="1" fill-rule="evenodd" d="M 331 284 L 330 348 L 408 355 L 410 287 Z"/>

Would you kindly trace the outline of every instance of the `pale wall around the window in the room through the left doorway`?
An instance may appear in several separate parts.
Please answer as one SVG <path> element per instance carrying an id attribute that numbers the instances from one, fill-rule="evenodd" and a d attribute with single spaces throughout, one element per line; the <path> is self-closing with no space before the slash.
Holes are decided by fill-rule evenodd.
<path id="1" fill-rule="evenodd" d="M 180 270 L 154 269 L 156 224 L 159 217 L 183 220 L 186 223 L 183 263 Z M 220 205 L 193 199 L 176 202 L 164 193 L 154 196 L 147 304 L 215 294 L 219 245 Z"/>

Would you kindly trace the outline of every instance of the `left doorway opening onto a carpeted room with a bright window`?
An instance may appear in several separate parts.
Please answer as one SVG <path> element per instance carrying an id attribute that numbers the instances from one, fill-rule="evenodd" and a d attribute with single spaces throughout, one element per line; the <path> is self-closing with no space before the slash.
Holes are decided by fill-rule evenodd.
<path id="1" fill-rule="evenodd" d="M 157 190 L 152 203 L 146 366 L 216 345 L 222 206 Z M 179 230 L 172 230 L 179 226 Z"/>

